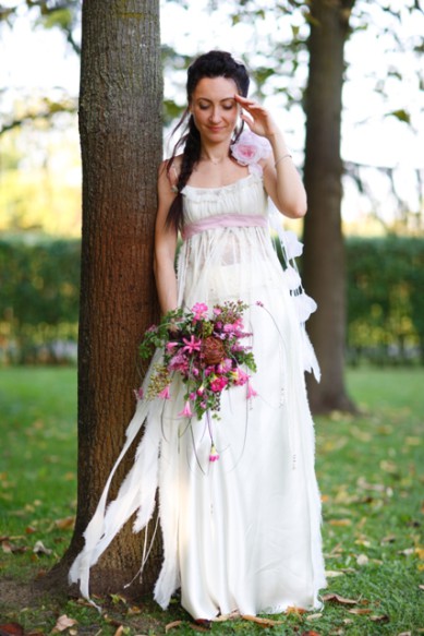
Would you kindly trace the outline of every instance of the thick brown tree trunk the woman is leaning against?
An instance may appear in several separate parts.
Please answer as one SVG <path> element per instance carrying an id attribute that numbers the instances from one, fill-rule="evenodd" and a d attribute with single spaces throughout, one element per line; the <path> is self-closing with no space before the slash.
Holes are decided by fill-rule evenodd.
<path id="1" fill-rule="evenodd" d="M 83 3 L 80 135 L 83 238 L 78 340 L 78 493 L 74 536 L 48 577 L 63 585 L 80 552 L 140 386 L 137 346 L 157 319 L 153 277 L 156 178 L 161 160 L 162 76 L 158 0 Z M 130 453 L 131 455 L 131 453 Z M 129 466 L 124 461 L 111 495 Z M 131 525 L 93 569 L 92 592 L 117 591 L 142 561 Z M 156 544 L 144 574 L 160 565 Z M 134 584 L 132 592 L 142 591 Z"/>

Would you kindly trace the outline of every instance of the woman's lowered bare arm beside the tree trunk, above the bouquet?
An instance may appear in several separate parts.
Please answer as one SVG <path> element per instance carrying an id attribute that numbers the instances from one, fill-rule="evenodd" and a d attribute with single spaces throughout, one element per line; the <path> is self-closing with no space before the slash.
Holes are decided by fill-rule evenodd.
<path id="1" fill-rule="evenodd" d="M 175 194 L 171 190 L 162 163 L 158 175 L 158 212 L 155 226 L 154 272 L 159 304 L 162 313 L 177 309 L 177 275 L 174 267 L 177 230 L 167 227 L 166 220 Z"/>

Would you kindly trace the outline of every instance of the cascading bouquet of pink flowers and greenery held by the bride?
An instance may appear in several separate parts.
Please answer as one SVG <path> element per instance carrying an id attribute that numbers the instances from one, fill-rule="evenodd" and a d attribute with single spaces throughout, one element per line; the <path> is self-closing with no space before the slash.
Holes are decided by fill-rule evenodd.
<path id="1" fill-rule="evenodd" d="M 247 309 L 242 301 L 216 304 L 209 308 L 197 302 L 191 310 L 177 309 L 163 315 L 159 325 L 153 325 L 140 346 L 143 359 L 154 349 L 162 348 L 161 361 L 153 369 L 145 397 L 171 399 L 171 381 L 174 373 L 185 385 L 185 406 L 181 417 L 201 419 L 205 413 L 219 418 L 221 394 L 231 386 L 247 385 L 246 398 L 256 392 L 250 374 L 242 369 L 256 371 L 251 347 L 242 344 L 252 334 L 244 331 L 242 314 Z M 214 453 L 210 455 L 213 460 Z M 215 458 L 218 458 L 216 454 Z"/>

